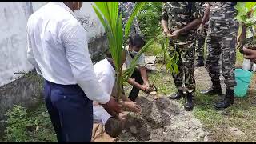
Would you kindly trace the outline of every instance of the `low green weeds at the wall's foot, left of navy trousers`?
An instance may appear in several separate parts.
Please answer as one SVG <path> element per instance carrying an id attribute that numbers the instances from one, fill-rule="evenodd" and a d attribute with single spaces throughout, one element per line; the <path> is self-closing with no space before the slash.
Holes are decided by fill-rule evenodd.
<path id="1" fill-rule="evenodd" d="M 43 108 L 43 109 L 42 109 Z M 26 108 L 14 105 L 6 112 L 6 142 L 56 142 L 53 127 L 46 108 L 39 107 L 37 113 L 29 114 Z"/>

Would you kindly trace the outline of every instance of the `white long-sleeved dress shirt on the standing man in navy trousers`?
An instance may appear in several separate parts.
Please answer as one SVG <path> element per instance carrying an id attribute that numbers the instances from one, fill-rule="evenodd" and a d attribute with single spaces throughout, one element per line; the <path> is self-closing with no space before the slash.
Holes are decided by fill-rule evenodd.
<path id="1" fill-rule="evenodd" d="M 28 61 L 47 81 L 78 84 L 90 100 L 105 104 L 110 94 L 99 85 L 90 59 L 86 30 L 63 2 L 49 2 L 27 22 Z"/>

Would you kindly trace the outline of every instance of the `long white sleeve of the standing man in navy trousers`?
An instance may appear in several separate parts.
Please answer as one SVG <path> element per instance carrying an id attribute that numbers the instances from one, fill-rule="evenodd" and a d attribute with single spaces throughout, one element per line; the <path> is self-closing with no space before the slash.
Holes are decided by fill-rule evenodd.
<path id="1" fill-rule="evenodd" d="M 102 89 L 94 73 L 94 66 L 88 50 L 86 30 L 80 24 L 68 23 L 63 26 L 61 31 L 66 58 L 78 85 L 90 100 L 101 104 L 109 102 L 110 94 Z"/>

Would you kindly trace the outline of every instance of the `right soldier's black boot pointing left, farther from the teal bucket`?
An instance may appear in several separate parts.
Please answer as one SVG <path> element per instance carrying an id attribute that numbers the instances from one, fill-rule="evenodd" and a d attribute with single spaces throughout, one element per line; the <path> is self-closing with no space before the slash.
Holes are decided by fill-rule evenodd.
<path id="1" fill-rule="evenodd" d="M 209 89 L 207 89 L 207 90 L 202 90 L 200 92 L 200 94 L 209 94 L 209 95 L 218 94 L 218 95 L 222 95 L 221 82 L 213 81 L 213 85 Z"/>

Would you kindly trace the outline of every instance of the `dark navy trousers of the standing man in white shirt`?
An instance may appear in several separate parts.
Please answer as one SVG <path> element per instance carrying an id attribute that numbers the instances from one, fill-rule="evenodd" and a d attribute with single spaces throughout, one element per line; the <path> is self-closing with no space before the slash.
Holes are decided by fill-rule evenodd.
<path id="1" fill-rule="evenodd" d="M 80 86 L 46 81 L 44 94 L 58 142 L 90 142 L 93 103 Z"/>

